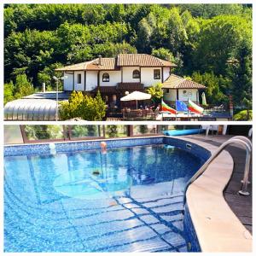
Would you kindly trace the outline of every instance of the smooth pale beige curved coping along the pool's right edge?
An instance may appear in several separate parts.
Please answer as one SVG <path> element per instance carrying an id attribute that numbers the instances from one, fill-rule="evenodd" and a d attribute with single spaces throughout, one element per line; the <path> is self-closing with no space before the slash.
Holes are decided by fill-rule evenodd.
<path id="1" fill-rule="evenodd" d="M 214 152 L 218 147 L 196 137 L 179 137 Z M 217 138 L 217 137 L 215 137 Z M 203 253 L 252 252 L 253 237 L 224 199 L 233 159 L 226 150 L 189 186 L 187 204 Z"/>

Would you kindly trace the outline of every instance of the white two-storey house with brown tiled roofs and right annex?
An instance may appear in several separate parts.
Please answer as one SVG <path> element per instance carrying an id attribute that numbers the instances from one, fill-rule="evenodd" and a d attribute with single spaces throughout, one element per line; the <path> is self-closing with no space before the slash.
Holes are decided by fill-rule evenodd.
<path id="1" fill-rule="evenodd" d="M 115 58 L 99 58 L 71 66 L 55 69 L 63 72 L 67 79 L 64 80 L 64 90 L 80 90 L 95 95 L 100 90 L 102 98 L 110 106 L 120 106 L 119 98 L 125 96 L 125 92 L 134 90 L 144 91 L 153 84 L 163 83 L 166 87 L 166 100 L 172 102 L 175 99 L 188 100 L 188 97 L 199 102 L 198 90 L 205 86 L 192 81 L 180 83 L 176 88 L 172 85 L 172 67 L 176 65 L 170 61 L 164 61 L 153 55 L 146 54 L 119 54 Z M 175 78 L 179 78 L 175 76 Z M 183 81 L 183 78 L 179 78 Z M 191 86 L 191 88 L 189 87 Z M 187 94 L 184 94 L 184 90 Z M 174 97 L 176 96 L 176 98 Z M 122 102 L 122 104 L 125 104 Z M 126 103 L 127 104 L 127 103 Z"/>

